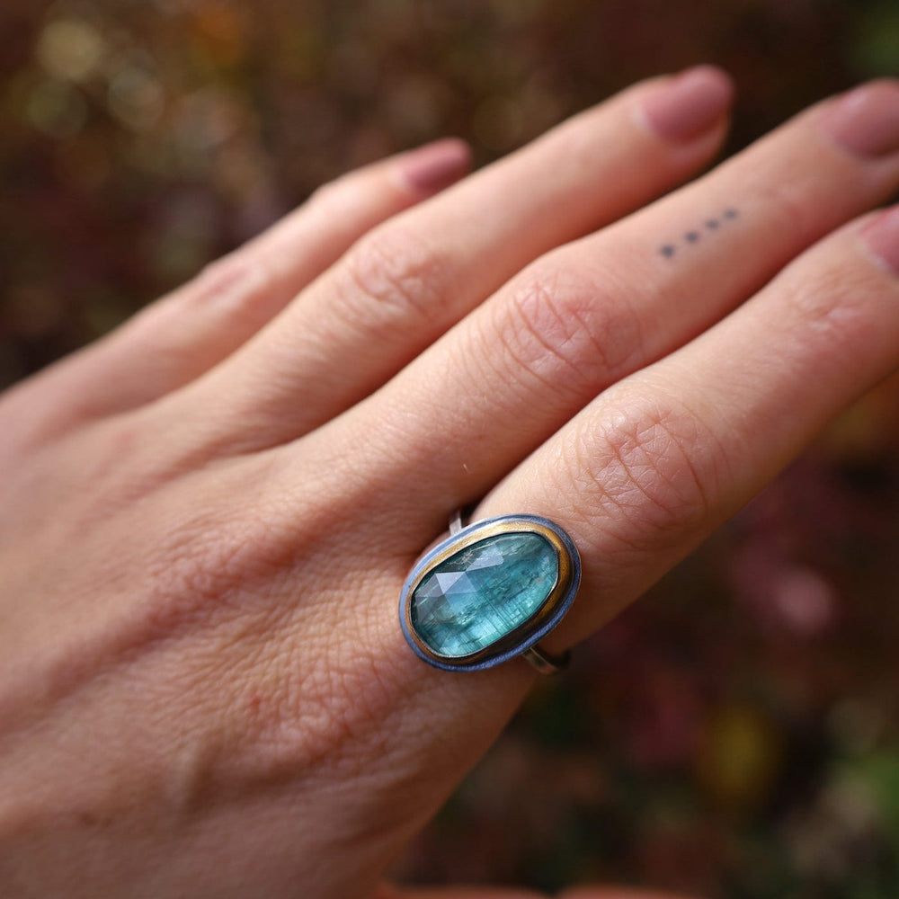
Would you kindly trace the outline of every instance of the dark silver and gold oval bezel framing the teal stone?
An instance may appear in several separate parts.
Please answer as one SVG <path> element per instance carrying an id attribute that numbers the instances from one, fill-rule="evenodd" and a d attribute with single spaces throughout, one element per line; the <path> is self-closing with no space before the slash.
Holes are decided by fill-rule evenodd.
<path id="1" fill-rule="evenodd" d="M 522 622 L 502 639 L 476 653 L 446 656 L 435 653 L 415 632 L 412 622 L 412 597 L 416 587 L 437 565 L 481 540 L 498 534 L 539 534 L 556 551 L 558 576 L 547 599 L 530 619 Z M 571 608 L 581 583 L 581 560 L 574 541 L 554 521 L 537 515 L 505 515 L 476 521 L 457 534 L 441 540 L 415 563 L 400 596 L 399 618 L 406 641 L 423 661 L 443 671 L 482 671 L 493 668 L 536 645 L 556 628 Z"/>

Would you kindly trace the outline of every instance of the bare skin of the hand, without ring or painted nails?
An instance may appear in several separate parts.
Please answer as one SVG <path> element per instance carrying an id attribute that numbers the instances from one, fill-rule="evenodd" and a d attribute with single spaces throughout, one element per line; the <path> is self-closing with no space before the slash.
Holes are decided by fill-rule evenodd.
<path id="1" fill-rule="evenodd" d="M 382 883 L 536 676 L 421 663 L 416 556 L 469 503 L 558 521 L 559 652 L 899 363 L 899 154 L 825 102 L 652 202 L 726 128 L 654 133 L 662 83 L 433 198 L 348 175 L 4 396 L 4 896 L 533 896 Z"/>

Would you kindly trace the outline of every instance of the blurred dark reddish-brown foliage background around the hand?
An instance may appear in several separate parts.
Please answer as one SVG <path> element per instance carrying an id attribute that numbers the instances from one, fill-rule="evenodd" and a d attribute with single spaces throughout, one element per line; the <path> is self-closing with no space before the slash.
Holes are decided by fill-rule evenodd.
<path id="1" fill-rule="evenodd" d="M 699 61 L 734 152 L 899 74 L 899 4 L 3 0 L 0 382 L 347 168 L 448 134 L 485 163 Z M 894 380 L 542 681 L 398 875 L 895 899 L 897 600 Z"/>

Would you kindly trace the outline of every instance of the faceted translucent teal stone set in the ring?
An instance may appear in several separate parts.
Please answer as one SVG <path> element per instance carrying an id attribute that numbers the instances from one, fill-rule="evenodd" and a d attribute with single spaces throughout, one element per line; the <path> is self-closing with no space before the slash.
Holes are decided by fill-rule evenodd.
<path id="1" fill-rule="evenodd" d="M 476 653 L 539 610 L 558 580 L 556 549 L 534 533 L 500 534 L 437 565 L 415 589 L 410 615 L 432 650 Z"/>

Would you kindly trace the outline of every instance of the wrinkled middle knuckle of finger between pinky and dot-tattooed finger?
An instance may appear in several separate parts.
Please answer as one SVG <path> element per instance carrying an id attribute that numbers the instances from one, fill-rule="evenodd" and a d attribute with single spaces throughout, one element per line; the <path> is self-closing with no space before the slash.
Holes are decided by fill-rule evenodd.
<path id="1" fill-rule="evenodd" d="M 339 293 L 348 315 L 366 327 L 433 317 L 448 288 L 449 258 L 408 227 L 378 227 L 352 248 Z"/>

